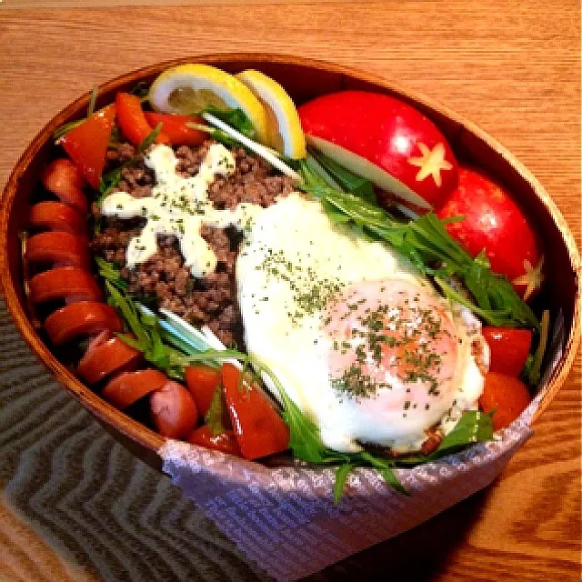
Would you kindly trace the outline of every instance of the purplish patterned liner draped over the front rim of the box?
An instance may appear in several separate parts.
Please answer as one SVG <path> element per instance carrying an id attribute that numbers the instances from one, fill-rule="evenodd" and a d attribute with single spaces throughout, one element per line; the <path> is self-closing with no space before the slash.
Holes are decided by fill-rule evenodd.
<path id="1" fill-rule="evenodd" d="M 388 487 L 374 469 L 358 468 L 335 506 L 333 468 L 270 468 L 171 440 L 159 454 L 172 481 L 247 557 L 277 580 L 294 580 L 415 527 L 487 487 L 533 435 L 531 419 L 563 346 L 559 314 L 546 373 L 527 409 L 494 441 L 396 469 L 410 497 Z"/>

